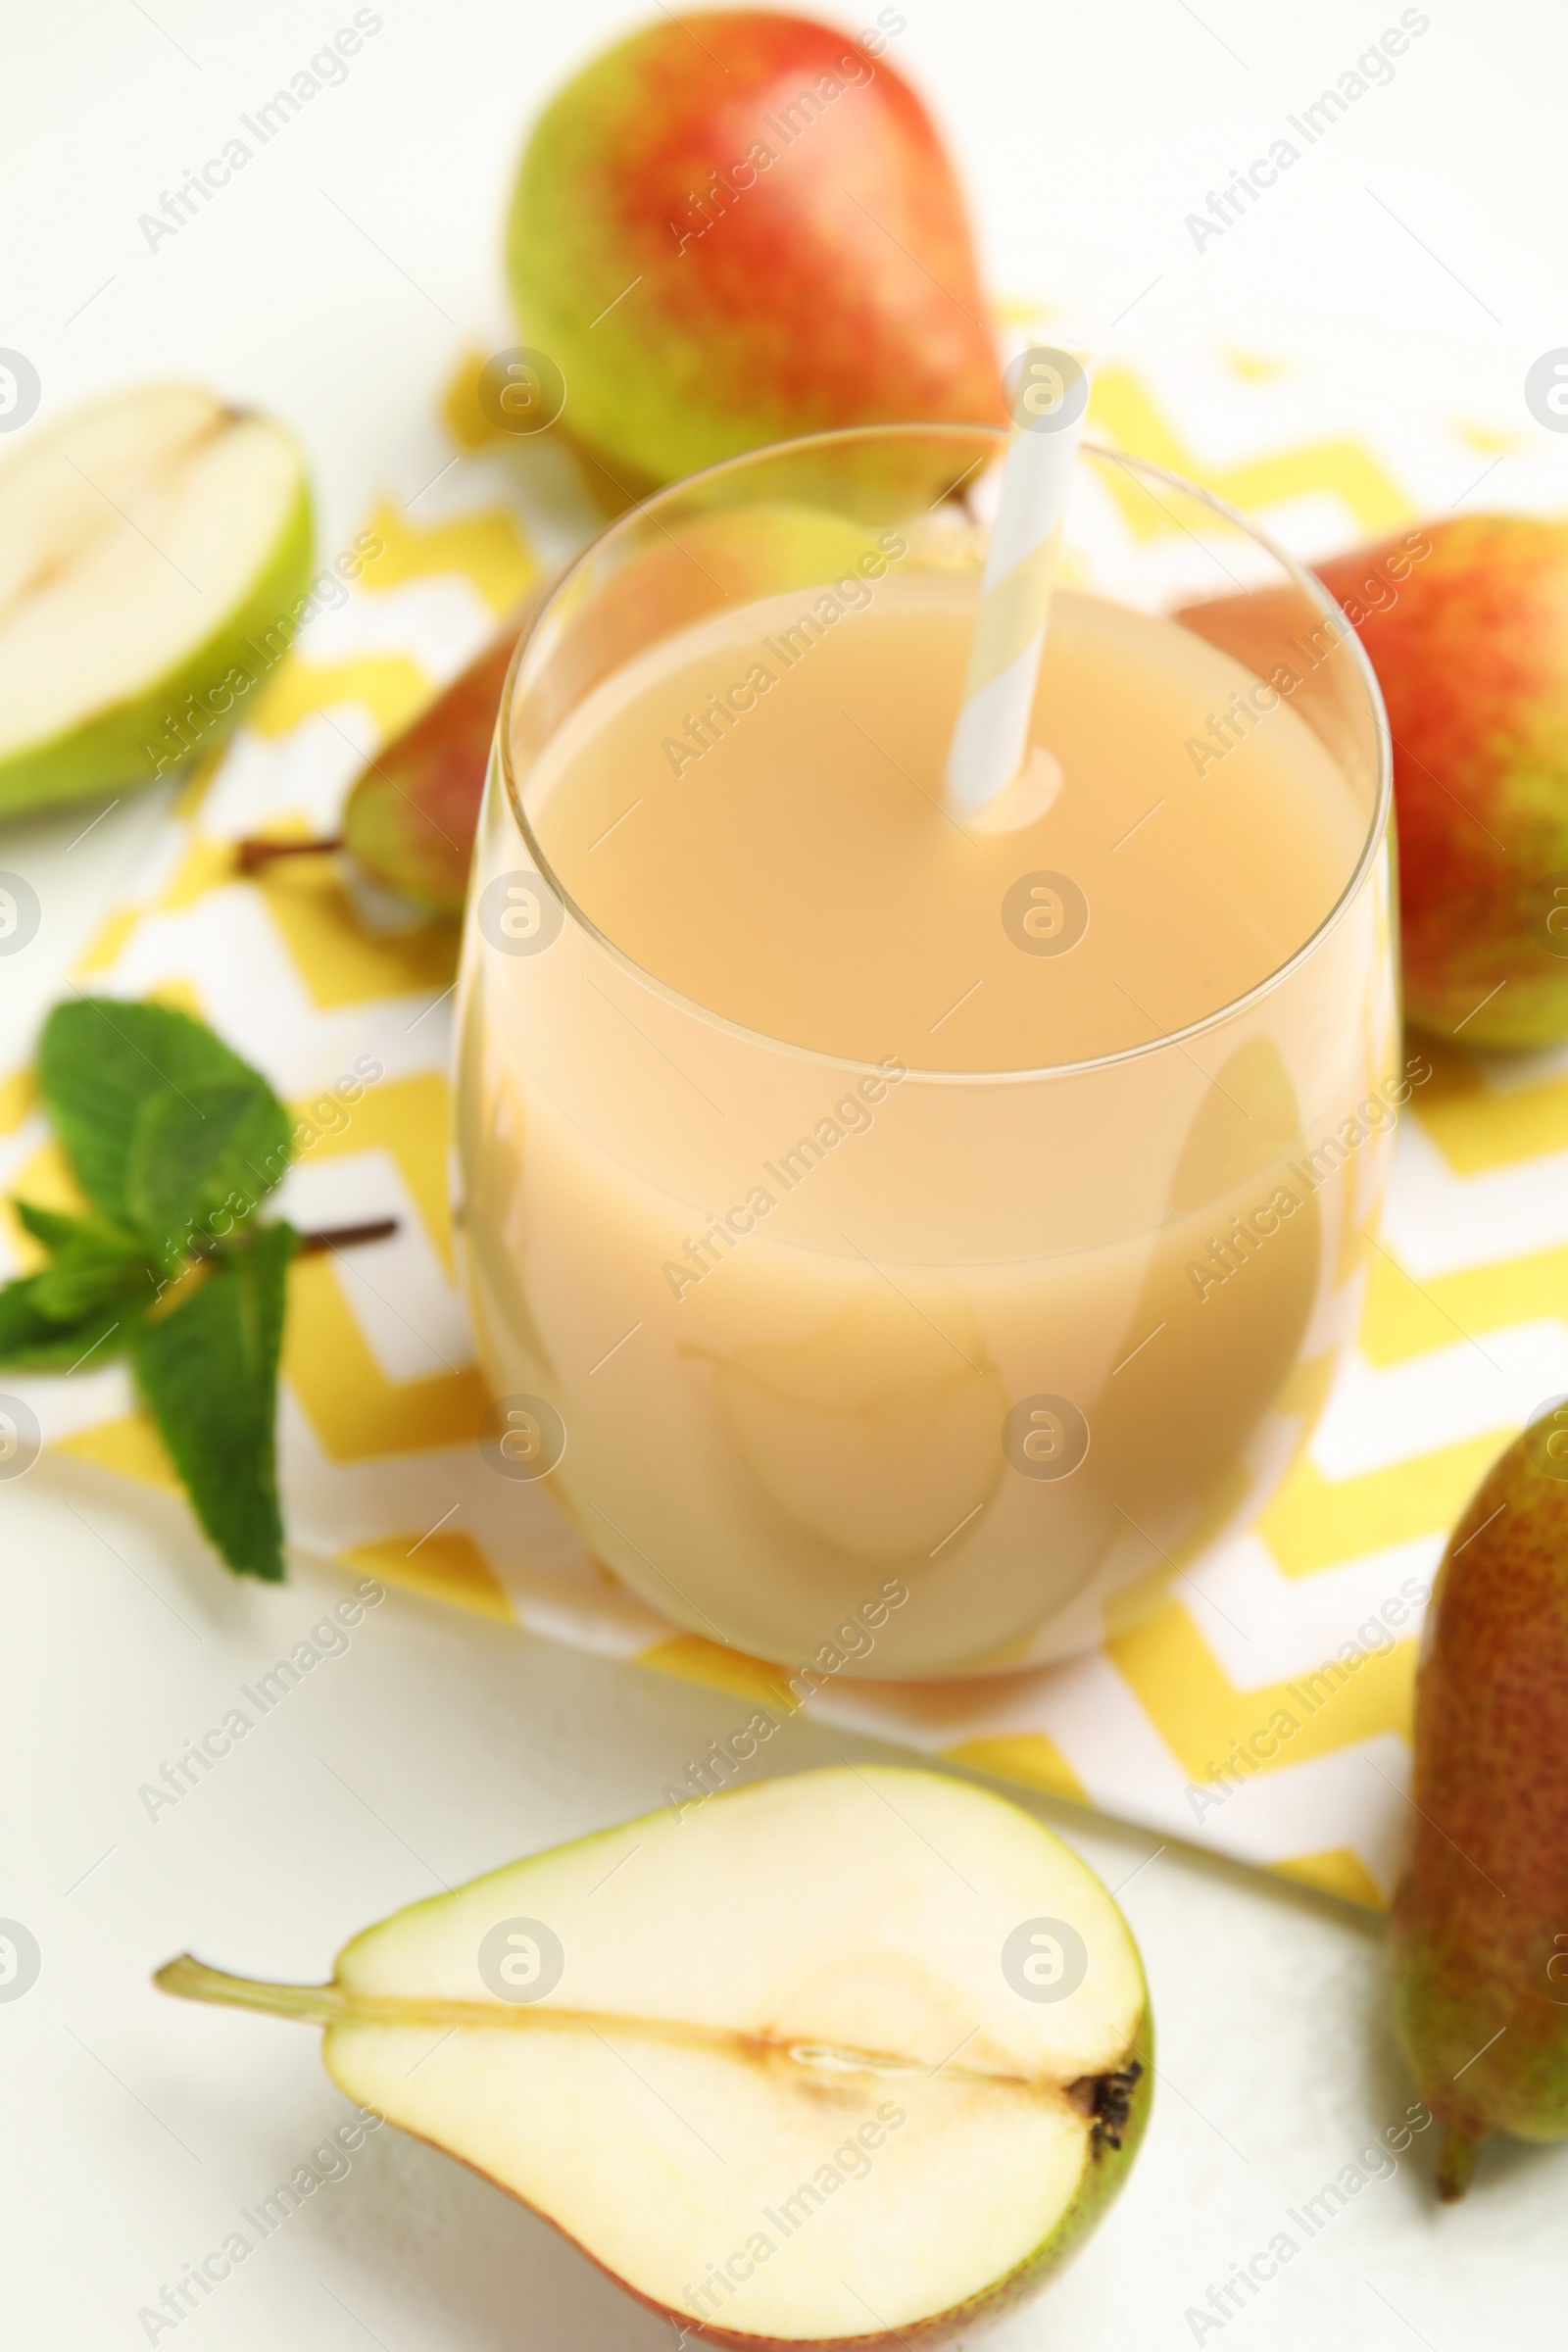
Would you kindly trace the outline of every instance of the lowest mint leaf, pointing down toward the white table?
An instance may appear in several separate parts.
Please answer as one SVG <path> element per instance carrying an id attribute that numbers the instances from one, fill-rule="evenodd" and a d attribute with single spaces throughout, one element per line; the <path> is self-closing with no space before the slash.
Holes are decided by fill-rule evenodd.
<path id="1" fill-rule="evenodd" d="M 223 1251 L 167 1315 L 129 1343 L 141 1399 L 158 1423 L 214 1548 L 242 1576 L 282 1581 L 277 1508 L 277 1355 L 292 1225 L 261 1225 Z"/>

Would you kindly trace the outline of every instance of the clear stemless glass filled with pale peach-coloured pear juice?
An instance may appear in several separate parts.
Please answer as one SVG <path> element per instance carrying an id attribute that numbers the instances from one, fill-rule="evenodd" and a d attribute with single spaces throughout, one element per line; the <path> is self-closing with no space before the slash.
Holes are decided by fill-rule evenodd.
<path id="1" fill-rule="evenodd" d="M 943 804 L 1001 452 L 832 433 L 614 522 L 480 821 L 491 1461 L 813 1677 L 1072 1656 L 1246 1529 L 1408 1094 L 1378 689 L 1220 501 L 1081 452 L 1023 781 Z"/>

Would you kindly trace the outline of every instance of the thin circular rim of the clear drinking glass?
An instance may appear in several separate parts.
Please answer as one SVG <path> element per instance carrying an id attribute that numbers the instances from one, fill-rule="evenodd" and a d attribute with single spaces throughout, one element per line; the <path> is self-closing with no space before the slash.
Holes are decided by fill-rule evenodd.
<path id="1" fill-rule="evenodd" d="M 501 687 L 501 708 L 496 710 L 496 734 L 494 734 L 494 750 L 501 764 L 501 781 L 505 786 L 510 818 L 517 826 L 517 833 L 522 835 L 522 844 L 529 851 L 534 870 L 550 887 L 567 920 L 574 922 L 576 929 L 585 934 L 585 938 L 590 938 L 597 948 L 602 948 L 604 955 L 609 955 L 616 964 L 621 964 L 621 969 L 628 971 L 635 981 L 639 981 L 644 988 L 651 988 L 654 995 L 663 997 L 679 1011 L 703 1021 L 708 1028 L 724 1030 L 731 1037 L 741 1040 L 743 1044 L 766 1047 L 773 1054 L 788 1054 L 797 1061 L 823 1063 L 830 1070 L 846 1070 L 856 1077 L 884 1077 L 886 1070 L 882 1063 L 858 1061 L 853 1054 L 827 1054 L 820 1047 L 795 1044 L 788 1037 L 773 1037 L 771 1030 L 757 1030 L 748 1028 L 743 1021 L 731 1021 L 729 1014 L 715 1011 L 712 1004 L 703 1004 L 698 997 L 689 997 L 679 988 L 672 988 L 656 971 L 649 971 L 646 964 L 639 964 L 637 957 L 628 955 L 628 950 L 618 946 L 618 941 L 614 941 L 609 931 L 599 929 L 592 915 L 583 906 L 578 906 L 578 901 L 571 896 L 567 884 L 555 873 L 555 866 L 545 856 L 545 849 L 538 835 L 534 833 L 534 826 L 529 823 L 527 809 L 522 807 L 522 793 L 517 790 L 517 774 L 512 769 L 512 699 L 517 691 L 517 682 L 522 677 L 522 668 L 534 647 L 534 640 L 543 630 L 545 621 L 555 614 L 564 593 L 576 583 L 588 560 L 597 555 L 602 546 L 614 541 L 616 534 L 628 532 L 635 522 L 642 522 L 646 515 L 658 517 L 661 506 L 682 499 L 689 489 L 698 487 L 701 482 L 717 482 L 724 475 L 743 473 L 745 468 L 752 468 L 764 459 L 797 456 L 802 452 L 830 449 L 830 447 L 853 447 L 856 442 L 889 442 L 889 440 L 914 440 L 914 437 L 954 440 L 954 442 L 987 440 L 992 442 L 994 452 L 1001 454 L 1001 449 L 1006 449 L 1009 428 L 983 426 L 983 423 L 973 426 L 877 423 L 877 426 L 839 426 L 830 433 L 802 433 L 795 440 L 764 442 L 759 449 L 741 449 L 736 456 L 719 459 L 712 466 L 701 466 L 696 473 L 682 475 L 679 482 L 668 482 L 661 489 L 651 492 L 646 499 L 637 499 L 637 503 L 630 506 L 623 515 L 614 515 L 602 532 L 595 532 L 588 546 L 578 548 L 578 553 L 571 557 L 562 576 L 555 581 L 555 586 L 541 602 L 538 612 L 531 614 L 527 628 L 517 637 L 512 659 L 505 666 L 505 682 Z M 1333 621 L 1340 628 L 1342 633 L 1340 642 L 1349 652 L 1354 675 L 1361 684 L 1361 691 L 1366 694 L 1373 715 L 1373 736 L 1378 746 L 1378 781 L 1373 790 L 1373 811 L 1366 826 L 1366 837 L 1361 842 L 1361 851 L 1349 870 L 1349 877 L 1340 896 L 1333 901 L 1324 920 L 1307 934 L 1300 948 L 1293 948 L 1293 953 L 1284 960 L 1284 964 L 1276 964 L 1260 981 L 1246 988 L 1239 997 L 1229 997 L 1227 1004 L 1215 1007 L 1215 1011 L 1204 1014 L 1199 1021 L 1190 1021 L 1185 1028 L 1178 1030 L 1161 1030 L 1157 1037 L 1145 1037 L 1140 1044 L 1117 1047 L 1112 1054 L 1091 1054 L 1086 1061 L 1048 1061 L 1020 1070 L 926 1070 L 910 1065 L 907 1070 L 910 1082 L 922 1082 L 933 1087 L 1039 1084 L 1041 1080 L 1086 1077 L 1100 1070 L 1114 1070 L 1121 1063 L 1135 1063 L 1150 1054 L 1164 1054 L 1166 1049 L 1182 1051 L 1194 1040 L 1206 1037 L 1211 1030 L 1218 1030 L 1246 1016 L 1253 1007 L 1262 1004 L 1262 1000 L 1269 997 L 1276 988 L 1281 988 L 1293 971 L 1298 971 L 1312 955 L 1316 955 L 1328 934 L 1340 927 L 1345 913 L 1361 894 L 1361 887 L 1371 868 L 1375 866 L 1389 830 L 1389 818 L 1394 807 L 1394 750 L 1389 739 L 1387 710 L 1382 708 L 1382 691 L 1378 687 L 1375 670 L 1368 661 L 1361 637 L 1356 635 L 1354 623 L 1347 619 L 1345 609 L 1328 595 L 1316 574 L 1309 572 L 1307 564 L 1302 564 L 1295 555 L 1291 555 L 1291 550 L 1284 548 L 1272 536 L 1272 532 L 1265 532 L 1262 524 L 1258 524 L 1248 513 L 1244 513 L 1239 506 L 1232 506 L 1229 499 L 1220 499 L 1215 492 L 1201 489 L 1197 482 L 1190 482 L 1171 466 L 1157 466 L 1154 459 L 1133 456 L 1124 449 L 1110 449 L 1105 447 L 1105 442 L 1091 442 L 1091 440 L 1081 445 L 1081 454 L 1103 459 L 1110 466 L 1119 466 L 1124 473 L 1164 482 L 1166 487 L 1180 492 L 1182 496 L 1194 499 L 1199 506 L 1211 508 L 1211 513 L 1234 524 L 1251 541 L 1255 541 L 1267 555 L 1272 555 L 1274 562 L 1286 574 L 1286 579 L 1293 586 L 1298 586 L 1307 595 L 1307 600 L 1316 607 L 1319 616 Z"/>

